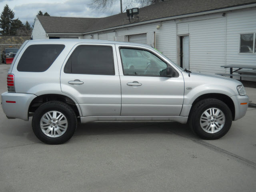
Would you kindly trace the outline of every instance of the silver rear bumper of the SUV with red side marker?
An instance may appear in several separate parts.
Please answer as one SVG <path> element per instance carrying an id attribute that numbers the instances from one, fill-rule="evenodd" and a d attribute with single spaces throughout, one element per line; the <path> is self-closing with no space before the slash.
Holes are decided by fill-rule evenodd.
<path id="1" fill-rule="evenodd" d="M 28 121 L 28 108 L 34 98 L 36 98 L 34 94 L 4 92 L 1 95 L 3 111 L 8 118 Z M 8 103 L 6 101 L 15 101 L 16 103 Z"/>

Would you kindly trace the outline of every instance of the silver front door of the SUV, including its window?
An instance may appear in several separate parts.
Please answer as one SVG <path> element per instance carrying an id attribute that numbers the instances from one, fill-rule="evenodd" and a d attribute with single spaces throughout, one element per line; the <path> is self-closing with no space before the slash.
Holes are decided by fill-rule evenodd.
<path id="1" fill-rule="evenodd" d="M 161 76 L 171 66 L 160 54 L 144 46 L 116 45 L 122 89 L 121 116 L 179 116 L 184 99 L 184 80 Z M 141 57 L 129 63 L 128 58 Z M 139 60 L 138 60 L 139 61 Z"/>

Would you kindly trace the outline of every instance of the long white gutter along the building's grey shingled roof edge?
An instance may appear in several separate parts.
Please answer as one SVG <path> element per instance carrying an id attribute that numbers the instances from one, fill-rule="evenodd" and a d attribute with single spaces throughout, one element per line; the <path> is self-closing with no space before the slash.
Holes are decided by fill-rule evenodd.
<path id="1" fill-rule="evenodd" d="M 180 15 L 180 16 L 165 17 L 165 18 L 148 20 L 148 21 L 143 21 L 143 22 L 138 22 L 138 23 L 126 24 L 124 26 L 116 26 L 116 27 L 111 27 L 111 28 L 106 28 L 106 29 L 101 29 L 101 30 L 96 30 L 96 31 L 91 31 L 91 32 L 75 33 L 75 34 L 76 35 L 86 35 L 86 34 L 98 33 L 98 32 L 103 32 L 103 31 L 108 31 L 108 30 L 116 30 L 116 29 L 120 29 L 120 28 L 126 28 L 126 27 L 130 27 L 130 26 L 138 26 L 138 25 L 144 25 L 144 24 L 155 23 L 155 22 L 169 21 L 169 20 L 174 20 L 174 19 L 179 19 L 179 18 L 184 18 L 184 17 L 192 17 L 192 16 L 199 16 L 199 15 L 204 15 L 204 14 L 218 13 L 218 12 L 223 12 L 223 11 L 231 11 L 231 10 L 237 10 L 237 9 L 243 9 L 243 8 L 250 8 L 250 7 L 255 7 L 255 6 L 256 6 L 256 3 L 249 4 L 249 5 L 237 6 L 237 7 L 231 7 L 231 8 L 222 8 L 222 9 L 212 10 L 212 11 L 204 11 L 204 12 L 199 12 L 199 13 L 185 14 L 185 15 Z M 49 35 L 68 35 L 68 34 L 75 35 L 74 33 L 47 33 L 47 34 L 49 34 Z"/>

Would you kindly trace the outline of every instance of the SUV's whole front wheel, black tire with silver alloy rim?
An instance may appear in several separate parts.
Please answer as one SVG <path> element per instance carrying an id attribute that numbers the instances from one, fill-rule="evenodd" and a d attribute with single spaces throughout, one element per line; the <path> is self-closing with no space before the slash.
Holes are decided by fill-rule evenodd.
<path id="1" fill-rule="evenodd" d="M 189 125 L 202 139 L 214 140 L 223 137 L 231 124 L 230 108 L 218 99 L 204 99 L 192 106 Z"/>

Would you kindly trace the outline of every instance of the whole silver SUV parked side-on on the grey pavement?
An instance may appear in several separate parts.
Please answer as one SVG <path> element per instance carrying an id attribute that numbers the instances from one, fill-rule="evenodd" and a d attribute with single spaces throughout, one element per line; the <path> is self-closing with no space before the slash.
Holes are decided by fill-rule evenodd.
<path id="1" fill-rule="evenodd" d="M 33 116 L 34 133 L 48 144 L 69 140 L 78 121 L 175 121 L 218 139 L 248 107 L 241 82 L 183 70 L 154 48 L 128 42 L 26 41 L 7 87 L 7 118 Z"/>

